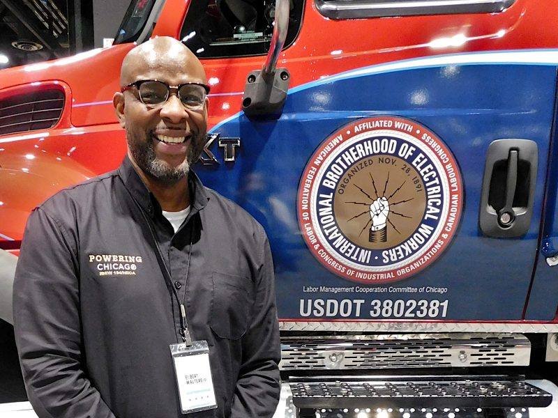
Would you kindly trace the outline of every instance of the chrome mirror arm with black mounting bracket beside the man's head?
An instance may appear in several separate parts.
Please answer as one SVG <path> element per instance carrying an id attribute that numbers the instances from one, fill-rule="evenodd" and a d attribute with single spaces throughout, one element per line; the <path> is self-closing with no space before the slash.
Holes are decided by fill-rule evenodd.
<path id="1" fill-rule="evenodd" d="M 287 68 L 277 68 L 277 61 L 289 29 L 289 0 L 276 0 L 271 47 L 262 70 L 248 74 L 242 109 L 248 116 L 280 114 L 287 100 L 291 75 Z"/>

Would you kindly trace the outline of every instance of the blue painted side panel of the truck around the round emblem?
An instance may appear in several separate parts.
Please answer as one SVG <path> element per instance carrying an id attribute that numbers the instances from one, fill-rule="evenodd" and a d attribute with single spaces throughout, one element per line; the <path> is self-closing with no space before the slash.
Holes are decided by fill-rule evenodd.
<path id="1" fill-rule="evenodd" d="M 444 57 L 443 65 L 427 59 L 357 69 L 292 88 L 278 121 L 239 114 L 213 128 L 241 139 L 236 161 L 199 165 L 197 172 L 265 227 L 280 318 L 522 319 L 541 224 L 556 68 L 504 61 L 497 53 L 465 54 Z M 460 222 L 428 267 L 404 279 L 347 279 L 313 255 L 303 238 L 301 177 L 334 132 L 384 116 L 433 132 L 453 154 L 462 178 Z M 485 157 L 497 139 L 529 139 L 538 150 L 533 215 L 519 238 L 490 238 L 479 229 Z"/>

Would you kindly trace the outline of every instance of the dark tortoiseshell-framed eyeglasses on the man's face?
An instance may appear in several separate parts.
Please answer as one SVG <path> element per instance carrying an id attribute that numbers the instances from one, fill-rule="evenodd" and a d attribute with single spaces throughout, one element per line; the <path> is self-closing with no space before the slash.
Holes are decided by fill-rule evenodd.
<path id="1" fill-rule="evenodd" d="M 140 94 L 140 100 L 149 107 L 160 107 L 167 102 L 170 89 L 176 90 L 176 96 L 183 106 L 190 110 L 199 110 L 204 107 L 205 98 L 209 94 L 209 86 L 202 83 L 183 83 L 178 86 L 169 86 L 158 80 L 139 80 L 124 86 L 121 92 L 135 87 Z"/>

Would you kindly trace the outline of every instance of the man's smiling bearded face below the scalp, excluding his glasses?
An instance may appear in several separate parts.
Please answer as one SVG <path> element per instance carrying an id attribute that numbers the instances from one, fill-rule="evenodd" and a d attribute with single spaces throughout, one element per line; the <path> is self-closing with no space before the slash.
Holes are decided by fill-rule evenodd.
<path id="1" fill-rule="evenodd" d="M 204 82 L 198 65 L 171 58 L 160 57 L 157 65 L 140 65 L 133 81 L 156 79 L 170 86 Z M 206 142 L 207 101 L 202 109 L 193 111 L 183 106 L 176 90 L 158 107 L 142 103 L 135 87 L 123 94 L 126 140 L 137 166 L 163 183 L 186 177 Z"/>

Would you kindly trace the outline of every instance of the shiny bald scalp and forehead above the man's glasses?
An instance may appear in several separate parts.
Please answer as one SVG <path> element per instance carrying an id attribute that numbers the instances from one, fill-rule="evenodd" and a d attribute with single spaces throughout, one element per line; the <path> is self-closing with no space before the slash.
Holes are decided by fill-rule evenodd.
<path id="1" fill-rule="evenodd" d="M 143 79 L 144 74 L 156 74 L 163 70 L 187 75 L 192 81 L 206 82 L 204 68 L 197 56 L 179 40 L 160 36 L 137 45 L 128 52 L 122 62 L 120 85 L 126 86 Z"/>

